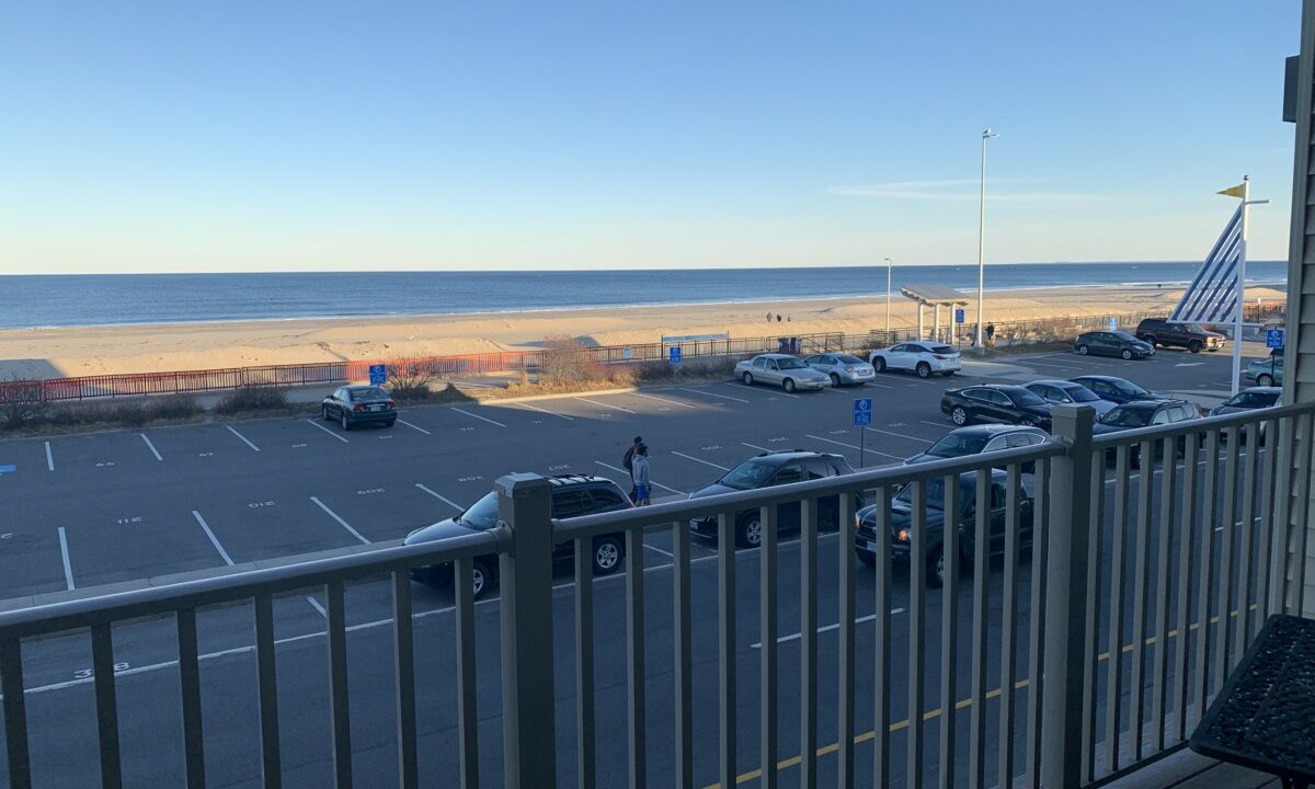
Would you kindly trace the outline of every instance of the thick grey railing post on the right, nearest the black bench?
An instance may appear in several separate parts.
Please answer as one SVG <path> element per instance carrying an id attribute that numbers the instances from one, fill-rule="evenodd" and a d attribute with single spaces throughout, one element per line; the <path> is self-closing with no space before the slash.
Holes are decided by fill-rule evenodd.
<path id="1" fill-rule="evenodd" d="M 1094 572 L 1088 567 L 1094 417 L 1085 405 L 1051 409 L 1053 434 L 1069 451 L 1051 462 L 1049 481 L 1040 781 L 1047 789 L 1077 789 L 1082 782 L 1082 669 L 1091 648 L 1085 622 L 1086 608 L 1094 605 L 1086 598 L 1086 576 Z"/>

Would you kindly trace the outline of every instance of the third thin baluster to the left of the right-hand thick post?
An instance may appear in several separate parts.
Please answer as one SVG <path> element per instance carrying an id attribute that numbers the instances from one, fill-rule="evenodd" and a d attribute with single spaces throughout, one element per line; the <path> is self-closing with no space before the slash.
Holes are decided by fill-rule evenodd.
<path id="1" fill-rule="evenodd" d="M 1005 496 L 1005 562 L 1009 562 L 1010 522 L 1018 522 L 1019 467 L 1009 467 L 1009 493 Z M 976 496 L 973 500 L 973 654 L 972 654 L 972 706 L 968 710 L 968 785 L 973 789 L 986 786 L 986 625 L 989 618 L 986 600 L 986 575 L 990 560 L 990 469 L 977 469 Z M 1011 611 L 1001 610 L 1001 618 L 1009 618 Z M 1003 647 L 1003 644 L 1001 644 Z M 1003 663 L 1003 661 L 1001 661 Z M 1001 682 L 999 701 L 1009 704 L 1006 696 L 1013 696 L 1013 682 Z M 1007 729 L 1001 729 L 999 748 L 1005 748 L 1011 738 Z"/>

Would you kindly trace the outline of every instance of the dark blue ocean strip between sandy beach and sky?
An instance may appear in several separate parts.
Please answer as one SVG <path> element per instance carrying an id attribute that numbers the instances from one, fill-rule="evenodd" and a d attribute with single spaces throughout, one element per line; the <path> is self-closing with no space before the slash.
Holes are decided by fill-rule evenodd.
<path id="1" fill-rule="evenodd" d="M 1181 287 L 1201 264 L 1019 263 L 986 268 L 990 291 L 1082 285 Z M 1248 284 L 1281 284 L 1286 262 L 1251 262 Z M 973 292 L 976 266 L 896 266 L 901 285 Z M 0 327 L 276 321 L 523 312 L 871 295 L 884 267 L 661 271 L 426 271 L 0 276 Z"/>

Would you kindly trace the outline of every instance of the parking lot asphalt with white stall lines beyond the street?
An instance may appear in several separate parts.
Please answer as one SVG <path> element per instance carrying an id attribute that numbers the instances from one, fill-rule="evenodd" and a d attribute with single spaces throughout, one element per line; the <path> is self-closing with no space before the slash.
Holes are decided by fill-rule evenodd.
<path id="1" fill-rule="evenodd" d="M 835 452 L 855 468 L 898 463 L 952 427 L 939 410 L 940 392 L 949 387 L 1102 373 L 1214 405 L 1227 396 L 1228 364 L 1223 354 L 1176 351 L 1145 362 L 1070 352 L 992 362 L 965 356 L 964 372 L 952 379 L 884 375 L 869 385 L 815 393 L 673 381 L 618 394 L 413 408 L 391 429 L 350 433 L 318 419 L 283 418 L 3 442 L 0 467 L 13 471 L 0 475 L 0 598 L 9 598 L 8 606 L 32 605 L 47 593 L 388 543 L 456 514 L 508 472 L 597 473 L 629 488 L 621 458 L 634 435 L 650 446 L 660 500 L 697 490 L 761 451 Z M 851 421 L 855 397 L 874 401 L 874 421 L 861 437 Z M 834 562 L 834 538 L 827 543 Z M 711 546 L 696 540 L 693 550 L 696 563 L 714 567 Z M 648 535 L 642 562 L 655 583 L 665 583 L 659 579 L 669 567 L 669 537 Z M 569 585 L 565 577 L 560 583 Z M 797 580 L 786 573 L 782 583 Z M 430 635 L 441 639 L 450 594 L 417 588 L 416 597 L 418 617 L 431 619 L 439 631 Z M 789 589 L 781 592 L 782 605 L 793 598 Z M 354 633 L 387 629 L 387 589 L 364 588 L 348 601 Z M 480 608 L 493 615 L 496 598 Z M 871 610 L 859 613 L 871 617 Z M 313 592 L 280 600 L 276 614 L 280 648 L 299 650 L 322 635 L 323 608 Z M 781 615 L 781 633 L 790 634 L 796 614 L 786 605 Z M 163 672 L 159 681 L 174 681 L 172 638 L 167 623 L 117 630 L 116 671 L 125 677 Z M 208 614 L 201 639 L 206 664 L 249 655 L 249 611 Z M 89 655 L 82 638 L 38 647 L 25 655 L 28 693 L 45 700 L 33 700 L 36 714 L 46 710 L 57 721 L 62 693 L 87 701 Z M 601 656 L 598 665 L 604 673 L 623 671 L 623 659 Z M 78 785 L 59 777 L 57 753 L 37 748 L 34 759 L 57 776 L 54 785 Z M 318 773 L 308 773 L 306 782 L 313 777 Z"/>

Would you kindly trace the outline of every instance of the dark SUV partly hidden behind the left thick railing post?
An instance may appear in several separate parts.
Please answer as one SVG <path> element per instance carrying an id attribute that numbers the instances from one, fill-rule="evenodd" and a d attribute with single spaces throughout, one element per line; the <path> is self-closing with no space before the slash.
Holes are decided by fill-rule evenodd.
<path id="1" fill-rule="evenodd" d="M 548 477 L 552 483 L 552 517 L 577 518 L 596 513 L 610 513 L 614 510 L 630 509 L 630 498 L 617 487 L 617 483 L 606 477 L 589 475 L 560 475 Z M 450 539 L 463 534 L 488 531 L 497 526 L 497 492 L 490 492 L 472 504 L 455 518 L 430 523 L 423 529 L 417 529 L 402 540 L 408 546 L 418 543 Z M 596 576 L 611 575 L 621 569 L 626 556 L 626 540 L 621 533 L 601 534 L 593 538 L 593 573 Z M 555 562 L 564 562 L 575 558 L 575 540 L 560 542 L 552 551 Z M 483 597 L 497 584 L 497 555 L 476 556 L 473 560 L 473 592 L 475 597 Z M 438 585 L 451 581 L 452 567 L 450 564 L 435 564 L 430 567 L 417 567 L 412 569 L 412 579 L 427 584 Z"/>

